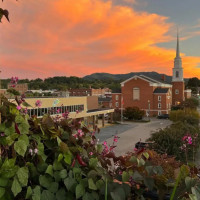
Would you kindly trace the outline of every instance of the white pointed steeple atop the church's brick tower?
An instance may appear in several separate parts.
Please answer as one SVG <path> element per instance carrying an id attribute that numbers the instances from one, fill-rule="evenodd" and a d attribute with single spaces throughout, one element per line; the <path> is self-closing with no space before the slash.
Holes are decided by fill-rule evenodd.
<path id="1" fill-rule="evenodd" d="M 182 68 L 182 59 L 180 57 L 178 32 L 177 32 L 176 57 L 174 58 L 172 82 L 183 82 L 183 68 Z"/>

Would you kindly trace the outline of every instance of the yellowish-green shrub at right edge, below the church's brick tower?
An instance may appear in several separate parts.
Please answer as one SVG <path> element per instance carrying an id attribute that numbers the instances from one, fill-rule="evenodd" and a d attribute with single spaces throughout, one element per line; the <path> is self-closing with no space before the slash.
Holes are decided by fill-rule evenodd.
<path id="1" fill-rule="evenodd" d="M 191 125 L 199 124 L 199 113 L 193 109 L 184 109 L 184 110 L 174 110 L 170 112 L 169 115 L 170 120 L 173 122 L 181 121 L 186 122 Z"/>

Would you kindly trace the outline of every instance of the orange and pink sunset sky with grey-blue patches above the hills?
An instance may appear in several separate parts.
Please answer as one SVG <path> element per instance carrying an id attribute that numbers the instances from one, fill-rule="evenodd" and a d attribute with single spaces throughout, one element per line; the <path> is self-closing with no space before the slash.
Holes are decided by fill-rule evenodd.
<path id="1" fill-rule="evenodd" d="M 1 78 L 95 72 L 172 74 L 177 26 L 184 76 L 200 78 L 199 0 L 5 0 Z"/>

